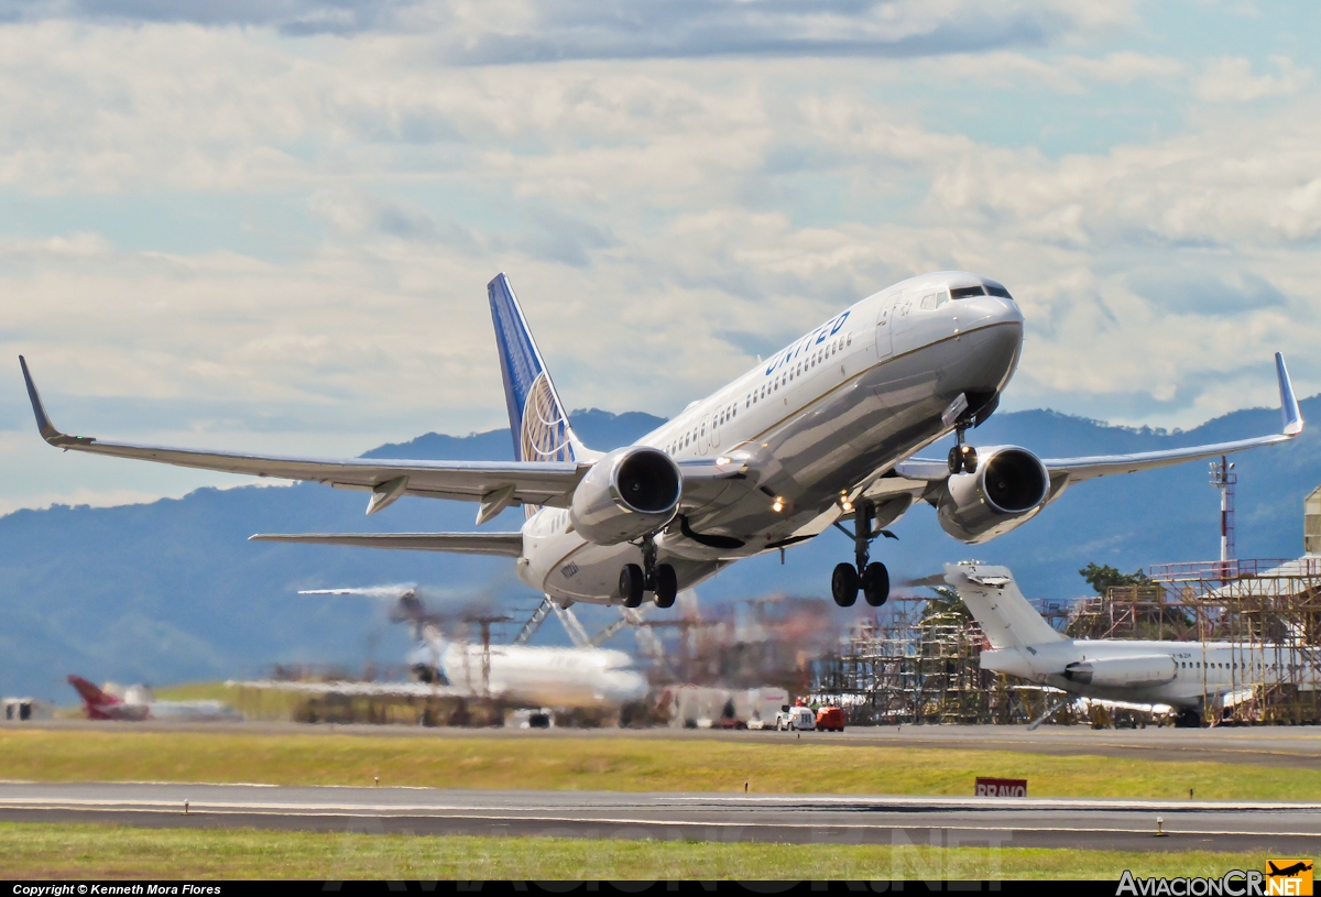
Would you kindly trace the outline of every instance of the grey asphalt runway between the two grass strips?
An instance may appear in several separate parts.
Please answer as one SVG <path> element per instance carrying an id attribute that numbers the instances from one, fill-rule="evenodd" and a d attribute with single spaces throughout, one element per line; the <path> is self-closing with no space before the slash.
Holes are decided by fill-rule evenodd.
<path id="1" fill-rule="evenodd" d="M 1157 818 L 1164 836 L 1157 836 Z M 0 820 L 808 844 L 1321 852 L 1321 803 L 0 783 Z"/>

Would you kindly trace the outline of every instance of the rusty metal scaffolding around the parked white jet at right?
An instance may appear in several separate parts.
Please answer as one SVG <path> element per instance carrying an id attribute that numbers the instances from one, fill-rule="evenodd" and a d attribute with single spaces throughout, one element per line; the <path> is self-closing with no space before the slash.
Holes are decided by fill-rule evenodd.
<path id="1" fill-rule="evenodd" d="M 1044 614 L 1073 638 L 1235 646 L 1234 684 L 1206 688 L 1213 724 L 1321 723 L 1321 557 L 1162 564 L 1151 581 L 1115 587 Z M 985 638 L 958 601 L 894 596 L 812 664 L 812 691 L 849 723 L 1016 724 L 1062 692 L 980 668 Z M 1053 723 L 1165 721 L 1135 707 L 1070 701 Z"/>

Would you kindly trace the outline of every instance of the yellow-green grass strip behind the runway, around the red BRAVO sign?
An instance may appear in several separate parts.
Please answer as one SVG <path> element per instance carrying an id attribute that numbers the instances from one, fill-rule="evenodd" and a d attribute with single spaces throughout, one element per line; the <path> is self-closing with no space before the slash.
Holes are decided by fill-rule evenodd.
<path id="1" fill-rule="evenodd" d="M 1034 797 L 1318 799 L 1321 770 L 659 738 L 417 738 L 309 733 L 0 731 L 7 779 L 411 785 L 461 789 L 972 793 L 978 775 L 1028 778 Z"/>

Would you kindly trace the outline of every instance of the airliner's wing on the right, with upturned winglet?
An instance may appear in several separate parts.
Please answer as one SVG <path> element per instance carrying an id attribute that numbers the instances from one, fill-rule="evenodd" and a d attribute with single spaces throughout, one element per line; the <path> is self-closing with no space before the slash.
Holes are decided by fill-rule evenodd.
<path id="1" fill-rule="evenodd" d="M 1240 439 L 1232 443 L 1190 445 L 1188 448 L 1166 449 L 1164 452 L 1096 454 L 1081 458 L 1042 458 L 1041 462 L 1046 466 L 1046 470 L 1050 474 L 1050 498 L 1054 499 L 1065 490 L 1066 486 L 1085 480 L 1108 477 L 1114 473 L 1136 473 L 1139 470 L 1149 470 L 1152 468 L 1165 468 L 1173 464 L 1182 464 L 1185 461 L 1214 458 L 1221 454 L 1230 454 L 1232 452 L 1242 452 L 1250 448 L 1289 441 L 1303 432 L 1303 412 L 1299 410 L 1299 400 L 1293 395 L 1293 383 L 1289 380 L 1289 371 L 1285 367 L 1284 357 L 1280 353 L 1275 353 L 1275 371 L 1280 386 L 1280 412 L 1283 416 L 1283 428 L 1279 433 L 1258 436 L 1254 439 Z M 917 484 L 930 484 L 945 480 L 948 476 L 950 470 L 945 461 L 910 458 L 908 461 L 901 461 L 894 466 L 893 477 L 882 477 L 881 480 L 877 480 L 876 484 L 878 486 L 889 480 L 894 480 L 898 484 L 897 490 L 908 490 L 905 487 L 913 487 Z M 868 494 L 873 490 L 875 486 L 868 489 Z"/>

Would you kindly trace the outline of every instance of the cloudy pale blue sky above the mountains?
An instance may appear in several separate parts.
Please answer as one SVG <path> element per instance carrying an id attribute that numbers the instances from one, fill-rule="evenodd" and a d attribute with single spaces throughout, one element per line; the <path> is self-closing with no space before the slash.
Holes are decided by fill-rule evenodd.
<path id="1" fill-rule="evenodd" d="M 896 280 L 1028 316 L 1003 407 L 1321 391 L 1321 7 L 0 0 L 0 511 L 503 424 L 506 271 L 572 407 L 671 415 Z"/>

